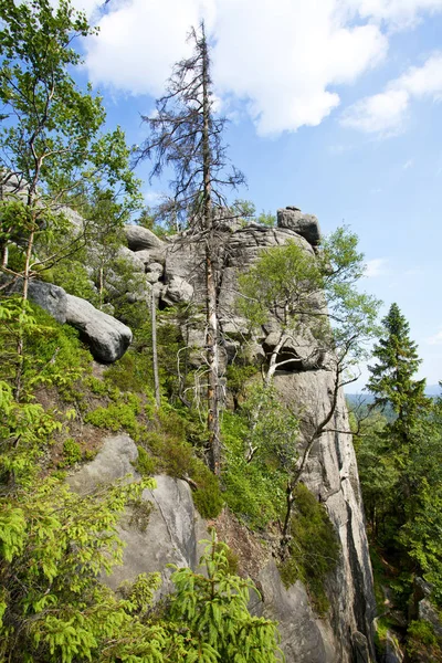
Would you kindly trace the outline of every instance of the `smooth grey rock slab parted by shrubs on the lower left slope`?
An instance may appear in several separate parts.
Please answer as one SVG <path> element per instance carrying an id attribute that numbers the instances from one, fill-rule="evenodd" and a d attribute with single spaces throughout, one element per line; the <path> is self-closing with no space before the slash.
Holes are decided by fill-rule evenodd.
<path id="1" fill-rule="evenodd" d="M 97 456 L 67 478 L 73 491 L 86 494 L 102 484 L 126 477 L 138 477 L 134 462 L 138 456 L 135 442 L 127 434 L 106 438 Z M 139 477 L 138 477 L 139 478 Z M 170 476 L 156 476 L 156 487 L 145 490 L 141 499 L 151 504 L 151 512 L 141 525 L 128 508 L 120 522 L 119 536 L 126 544 L 123 565 L 104 578 L 113 589 L 133 581 L 139 573 L 159 571 L 162 577 L 160 596 L 170 593 L 172 569 L 198 567 L 202 554 L 199 541 L 210 538 L 207 527 L 196 512 L 189 485 Z"/>

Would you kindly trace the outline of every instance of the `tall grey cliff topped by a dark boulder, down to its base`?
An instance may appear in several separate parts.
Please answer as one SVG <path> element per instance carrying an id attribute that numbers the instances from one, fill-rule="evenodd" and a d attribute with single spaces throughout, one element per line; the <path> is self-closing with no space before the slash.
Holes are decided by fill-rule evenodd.
<path id="1" fill-rule="evenodd" d="M 233 355 L 246 332 L 245 320 L 235 313 L 238 274 L 246 269 L 263 249 L 296 242 L 312 257 L 320 239 L 317 219 L 299 210 L 278 212 L 274 229 L 250 224 L 245 228 L 223 228 L 217 261 L 220 325 L 225 338 L 225 357 Z M 148 251 L 151 251 L 149 249 Z M 204 303 L 203 250 L 182 236 L 175 236 L 165 248 L 164 274 L 156 283 L 162 305 L 176 302 Z M 154 270 L 145 262 L 146 270 Z M 189 286 L 189 287 L 188 287 Z M 175 294 L 176 293 L 176 294 Z M 171 296 L 170 296 L 171 295 Z M 272 325 L 256 337 L 256 354 L 264 355 L 275 336 Z M 188 330 L 189 333 L 189 330 Z M 273 336 L 272 336 L 273 334 Z M 203 345 L 203 334 L 191 334 L 196 345 Z M 299 356 L 288 368 L 276 373 L 275 385 L 281 398 L 291 408 L 306 412 L 318 421 L 330 407 L 333 373 L 324 357 L 313 355 L 308 335 L 304 339 L 305 357 Z M 301 345 L 301 344 L 299 344 Z M 328 581 L 330 611 L 327 619 L 317 619 L 309 607 L 303 586 L 298 582 L 286 590 L 277 569 L 269 562 L 260 571 L 264 603 L 255 606 L 280 621 L 287 663 L 368 663 L 372 656 L 371 622 L 375 613 L 371 567 L 368 556 L 359 480 L 351 444 L 344 396 L 340 394 L 332 427 L 338 432 L 324 434 L 311 454 L 303 481 L 325 504 L 341 544 L 338 568 Z M 180 499 L 177 496 L 178 499 Z M 191 560 L 188 559 L 191 564 Z M 272 566 L 273 565 L 273 566 Z M 150 567 L 149 567 L 150 568 Z"/>

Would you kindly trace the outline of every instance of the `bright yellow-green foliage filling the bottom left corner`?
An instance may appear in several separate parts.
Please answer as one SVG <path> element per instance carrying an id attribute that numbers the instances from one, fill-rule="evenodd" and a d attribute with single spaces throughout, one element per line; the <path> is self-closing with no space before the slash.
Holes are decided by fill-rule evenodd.
<path id="1" fill-rule="evenodd" d="M 46 478 L 1 501 L 2 657 L 91 659 L 103 636 L 128 620 L 97 577 L 122 559 L 116 526 L 141 490 L 114 485 L 81 497 Z"/>

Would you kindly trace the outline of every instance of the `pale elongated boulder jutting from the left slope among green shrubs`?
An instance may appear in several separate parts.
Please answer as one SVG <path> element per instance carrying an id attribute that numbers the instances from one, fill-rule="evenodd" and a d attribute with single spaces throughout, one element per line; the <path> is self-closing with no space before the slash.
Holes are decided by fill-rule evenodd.
<path id="1" fill-rule="evenodd" d="M 66 323 L 80 330 L 94 358 L 112 364 L 123 357 L 131 343 L 129 327 L 81 297 L 66 297 Z"/>

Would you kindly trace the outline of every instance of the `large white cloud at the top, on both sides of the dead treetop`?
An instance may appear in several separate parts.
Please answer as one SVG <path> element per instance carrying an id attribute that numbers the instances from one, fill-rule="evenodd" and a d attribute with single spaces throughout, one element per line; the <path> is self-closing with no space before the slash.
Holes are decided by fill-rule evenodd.
<path id="1" fill-rule="evenodd" d="M 355 24 L 341 0 L 110 0 L 106 10 L 86 46 L 95 84 L 160 95 L 188 53 L 189 27 L 206 17 L 217 90 L 230 112 L 245 105 L 262 135 L 318 125 L 339 105 L 333 86 L 351 84 L 388 50 L 380 28 Z"/>

